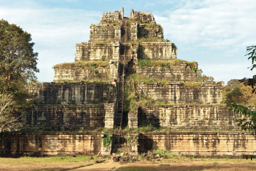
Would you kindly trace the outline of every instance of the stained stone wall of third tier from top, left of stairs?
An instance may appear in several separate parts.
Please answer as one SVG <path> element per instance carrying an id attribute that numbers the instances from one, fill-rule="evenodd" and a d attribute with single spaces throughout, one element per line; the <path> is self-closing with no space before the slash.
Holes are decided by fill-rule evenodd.
<path id="1" fill-rule="evenodd" d="M 75 51 L 75 61 L 107 60 L 113 56 L 112 43 L 80 43 Z"/>

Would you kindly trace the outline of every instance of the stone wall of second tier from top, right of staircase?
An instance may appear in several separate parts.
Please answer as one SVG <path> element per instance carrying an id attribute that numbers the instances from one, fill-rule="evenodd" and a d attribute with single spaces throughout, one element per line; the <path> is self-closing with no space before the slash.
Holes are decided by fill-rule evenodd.
<path id="1" fill-rule="evenodd" d="M 162 29 L 159 27 L 145 27 L 144 24 L 138 25 L 138 38 L 164 38 Z"/>

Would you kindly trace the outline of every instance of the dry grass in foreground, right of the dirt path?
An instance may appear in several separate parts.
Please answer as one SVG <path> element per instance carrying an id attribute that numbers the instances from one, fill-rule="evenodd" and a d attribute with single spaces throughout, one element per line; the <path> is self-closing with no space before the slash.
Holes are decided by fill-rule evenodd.
<path id="1" fill-rule="evenodd" d="M 129 163 L 126 166 L 118 168 L 116 171 L 186 171 L 186 170 L 202 170 L 202 171 L 253 171 L 256 168 L 256 161 L 241 159 L 211 159 L 206 161 L 190 160 L 190 161 L 160 161 Z M 223 161 L 224 160 L 224 161 Z"/>

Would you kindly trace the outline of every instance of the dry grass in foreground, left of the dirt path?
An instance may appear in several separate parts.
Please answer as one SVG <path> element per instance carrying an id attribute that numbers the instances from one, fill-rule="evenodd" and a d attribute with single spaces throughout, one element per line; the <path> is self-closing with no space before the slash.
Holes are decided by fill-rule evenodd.
<path id="1" fill-rule="evenodd" d="M 94 161 L 98 159 L 96 156 L 93 156 L 94 160 L 89 158 L 90 156 L 0 158 L 0 170 L 69 170 L 94 164 Z"/>

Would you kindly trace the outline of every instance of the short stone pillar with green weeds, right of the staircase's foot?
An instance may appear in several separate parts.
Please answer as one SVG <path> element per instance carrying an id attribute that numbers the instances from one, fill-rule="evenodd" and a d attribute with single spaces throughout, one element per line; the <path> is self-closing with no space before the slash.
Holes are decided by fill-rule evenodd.
<path id="1" fill-rule="evenodd" d="M 137 155 L 139 154 L 139 137 L 140 133 L 139 132 L 133 132 L 133 133 L 128 133 L 128 140 L 130 139 L 128 143 L 128 154 L 129 155 Z"/>

